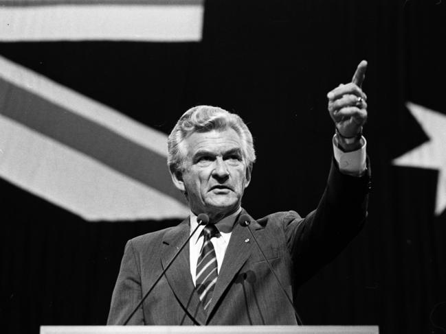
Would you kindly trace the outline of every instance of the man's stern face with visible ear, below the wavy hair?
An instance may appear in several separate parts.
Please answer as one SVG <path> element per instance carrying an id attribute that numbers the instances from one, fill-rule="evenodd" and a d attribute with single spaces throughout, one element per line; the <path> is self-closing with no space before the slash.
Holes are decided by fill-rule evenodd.
<path id="1" fill-rule="evenodd" d="M 240 206 L 250 180 L 242 145 L 232 128 L 194 132 L 183 141 L 184 169 L 173 179 L 177 188 L 187 191 L 193 213 L 221 219 Z"/>

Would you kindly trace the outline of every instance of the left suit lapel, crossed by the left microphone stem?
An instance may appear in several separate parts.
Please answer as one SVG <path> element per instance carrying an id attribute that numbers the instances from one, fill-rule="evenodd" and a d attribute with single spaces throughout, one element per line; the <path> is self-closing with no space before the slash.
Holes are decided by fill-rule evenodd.
<path id="1" fill-rule="evenodd" d="M 175 252 L 179 250 L 189 234 L 189 219 L 184 220 L 177 227 L 166 233 L 162 243 L 164 250 L 161 255 L 161 264 L 163 268 L 168 265 L 170 259 L 174 257 Z M 170 289 L 172 289 L 186 313 L 202 325 L 205 324 L 206 315 L 190 276 L 189 262 L 189 245 L 186 245 L 166 271 L 166 278 Z"/>

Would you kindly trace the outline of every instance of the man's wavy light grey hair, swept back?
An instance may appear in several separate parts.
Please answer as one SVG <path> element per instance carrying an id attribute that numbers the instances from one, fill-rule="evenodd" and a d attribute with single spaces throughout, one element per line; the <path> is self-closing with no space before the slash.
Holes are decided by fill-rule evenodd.
<path id="1" fill-rule="evenodd" d="M 168 137 L 167 165 L 170 171 L 175 172 L 183 169 L 186 156 L 181 150 L 181 142 L 194 132 L 209 132 L 212 130 L 223 131 L 228 128 L 234 129 L 242 139 L 243 158 L 247 161 L 249 169 L 252 169 L 256 161 L 254 141 L 248 127 L 243 119 L 222 108 L 214 106 L 196 106 L 184 112 L 177 121 L 175 128 Z"/>

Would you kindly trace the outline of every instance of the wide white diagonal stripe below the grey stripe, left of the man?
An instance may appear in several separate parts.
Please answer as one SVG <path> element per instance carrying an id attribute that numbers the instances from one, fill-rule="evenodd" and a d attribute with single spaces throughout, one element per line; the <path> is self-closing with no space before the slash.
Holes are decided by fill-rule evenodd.
<path id="1" fill-rule="evenodd" d="M 0 115 L 0 177 L 84 219 L 183 217 L 188 208 Z"/>

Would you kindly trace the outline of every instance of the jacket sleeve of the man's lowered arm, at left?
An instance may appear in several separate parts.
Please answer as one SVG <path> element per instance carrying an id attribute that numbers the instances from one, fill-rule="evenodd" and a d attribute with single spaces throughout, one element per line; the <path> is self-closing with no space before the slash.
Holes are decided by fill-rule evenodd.
<path id="1" fill-rule="evenodd" d="M 131 240 L 127 241 L 124 256 L 122 257 L 120 272 L 116 281 L 111 306 L 109 311 L 108 325 L 122 325 L 129 317 L 133 309 L 142 298 L 140 263 L 135 256 L 135 250 Z M 129 325 L 144 324 L 142 307 L 129 320 Z"/>

